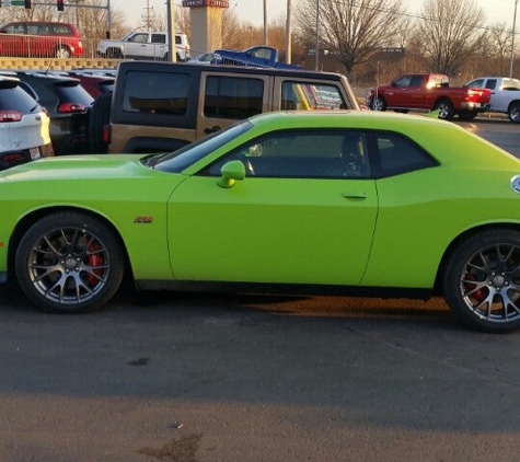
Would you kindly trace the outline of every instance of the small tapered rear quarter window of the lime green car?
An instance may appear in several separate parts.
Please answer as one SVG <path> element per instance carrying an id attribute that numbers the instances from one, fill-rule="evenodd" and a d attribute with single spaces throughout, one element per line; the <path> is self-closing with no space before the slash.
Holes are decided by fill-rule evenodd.
<path id="1" fill-rule="evenodd" d="M 370 135 L 375 145 L 373 171 L 377 176 L 392 176 L 439 163 L 409 138 L 395 132 Z"/>

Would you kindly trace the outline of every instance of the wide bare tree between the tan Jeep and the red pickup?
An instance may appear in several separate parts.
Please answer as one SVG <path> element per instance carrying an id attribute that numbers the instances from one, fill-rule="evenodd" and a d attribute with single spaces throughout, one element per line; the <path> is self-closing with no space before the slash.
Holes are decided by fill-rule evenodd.
<path id="1" fill-rule="evenodd" d="M 347 73 L 383 47 L 396 46 L 404 20 L 402 0 L 320 0 L 320 47 L 343 63 Z M 300 41 L 314 48 L 316 0 L 300 0 L 294 26 Z"/>

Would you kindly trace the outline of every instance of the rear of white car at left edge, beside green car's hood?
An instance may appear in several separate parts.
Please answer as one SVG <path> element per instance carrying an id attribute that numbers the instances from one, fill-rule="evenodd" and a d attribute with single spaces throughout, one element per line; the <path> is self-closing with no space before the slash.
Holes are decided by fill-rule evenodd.
<path id="1" fill-rule="evenodd" d="M 54 153 L 46 111 L 19 84 L 0 76 L 0 170 Z"/>

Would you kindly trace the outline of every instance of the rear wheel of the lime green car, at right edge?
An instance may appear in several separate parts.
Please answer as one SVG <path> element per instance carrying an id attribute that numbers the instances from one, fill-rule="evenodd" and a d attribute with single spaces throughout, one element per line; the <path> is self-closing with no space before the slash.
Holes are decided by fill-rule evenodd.
<path id="1" fill-rule="evenodd" d="M 451 310 L 472 328 L 520 328 L 520 232 L 489 229 L 463 241 L 448 259 L 442 291 Z"/>

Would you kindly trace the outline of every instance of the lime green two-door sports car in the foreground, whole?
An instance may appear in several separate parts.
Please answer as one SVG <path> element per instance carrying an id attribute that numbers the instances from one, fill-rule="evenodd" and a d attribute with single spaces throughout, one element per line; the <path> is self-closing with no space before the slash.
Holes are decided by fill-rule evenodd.
<path id="1" fill-rule="evenodd" d="M 53 312 L 140 289 L 425 298 L 520 327 L 520 161 L 450 123 L 268 113 L 173 153 L 0 173 L 0 281 Z M 515 211 L 517 210 L 517 211 Z"/>

